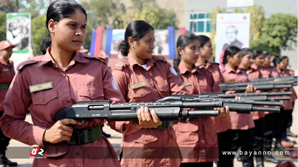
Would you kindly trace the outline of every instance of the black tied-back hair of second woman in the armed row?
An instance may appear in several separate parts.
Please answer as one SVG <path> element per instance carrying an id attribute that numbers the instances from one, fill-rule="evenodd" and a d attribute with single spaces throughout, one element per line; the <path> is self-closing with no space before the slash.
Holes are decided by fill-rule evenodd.
<path id="1" fill-rule="evenodd" d="M 125 30 L 124 41 L 119 44 L 118 51 L 127 56 L 129 52 L 128 38 L 132 37 L 135 41 L 140 40 L 150 30 L 154 31 L 154 28 L 143 20 L 135 20 L 128 24 Z"/>

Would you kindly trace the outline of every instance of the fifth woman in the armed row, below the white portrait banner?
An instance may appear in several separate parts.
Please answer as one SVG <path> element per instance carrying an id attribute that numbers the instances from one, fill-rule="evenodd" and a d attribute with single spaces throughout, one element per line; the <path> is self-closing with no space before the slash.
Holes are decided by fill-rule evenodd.
<path id="1" fill-rule="evenodd" d="M 229 46 L 224 51 L 222 63 L 224 64 L 223 76 L 226 82 L 249 82 L 249 77 L 245 70 L 240 70 L 242 59 L 242 52 L 240 48 Z M 229 91 L 235 93 L 236 91 Z M 226 93 L 229 93 L 226 92 Z M 252 85 L 248 85 L 246 93 L 255 92 Z M 251 114 L 238 114 L 236 112 L 230 113 L 232 122 L 232 151 L 237 151 L 241 146 L 241 151 L 253 151 L 253 127 L 254 121 Z M 232 160 L 234 160 L 232 156 Z M 253 167 L 253 155 L 241 155 L 242 165 L 246 167 Z"/>

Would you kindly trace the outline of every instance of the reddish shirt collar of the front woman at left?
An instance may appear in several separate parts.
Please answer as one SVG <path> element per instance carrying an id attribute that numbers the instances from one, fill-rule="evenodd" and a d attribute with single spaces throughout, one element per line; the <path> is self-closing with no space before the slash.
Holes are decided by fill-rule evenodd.
<path id="1" fill-rule="evenodd" d="M 55 64 L 54 59 L 51 56 L 51 47 L 47 48 L 46 54 L 42 58 L 41 62 L 38 64 L 38 67 L 41 65 L 44 65 L 48 62 L 52 62 L 52 64 Z M 80 62 L 80 63 L 88 63 L 89 61 L 83 56 L 83 53 L 80 52 L 75 52 L 75 56 L 73 56 L 72 60 L 70 61 L 68 66 L 74 65 L 75 62 Z"/>

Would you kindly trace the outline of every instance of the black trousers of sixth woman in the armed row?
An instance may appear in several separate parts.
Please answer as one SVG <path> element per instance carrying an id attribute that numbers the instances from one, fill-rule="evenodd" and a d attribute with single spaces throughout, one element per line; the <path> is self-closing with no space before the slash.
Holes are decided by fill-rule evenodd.
<path id="1" fill-rule="evenodd" d="M 264 132 L 265 132 L 265 117 L 254 120 L 254 151 L 256 152 L 263 152 L 263 139 L 264 139 Z M 262 157 L 260 155 L 260 157 Z"/>

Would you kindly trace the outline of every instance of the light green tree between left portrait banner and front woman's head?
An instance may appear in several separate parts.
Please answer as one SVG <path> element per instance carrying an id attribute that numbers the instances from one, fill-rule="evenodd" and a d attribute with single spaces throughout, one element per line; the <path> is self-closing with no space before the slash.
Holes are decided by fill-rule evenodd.
<path id="1" fill-rule="evenodd" d="M 34 40 L 34 46 L 36 53 L 39 55 L 40 52 L 40 43 L 42 41 L 42 39 L 47 35 L 47 33 L 49 32 L 46 29 L 46 16 L 43 15 L 38 15 L 35 18 L 32 19 L 32 37 Z"/>

